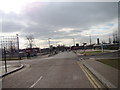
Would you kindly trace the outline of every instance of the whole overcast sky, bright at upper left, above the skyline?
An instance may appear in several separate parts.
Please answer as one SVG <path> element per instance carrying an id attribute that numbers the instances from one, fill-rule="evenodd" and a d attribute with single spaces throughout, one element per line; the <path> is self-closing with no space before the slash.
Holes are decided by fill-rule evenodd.
<path id="1" fill-rule="evenodd" d="M 19 0 L 21 1 L 21 0 Z M 118 30 L 117 2 L 10 2 L 0 10 L 0 35 L 20 36 L 20 48 L 27 46 L 26 36 L 33 35 L 40 48 L 51 44 L 80 45 L 96 38 L 108 42 Z"/>

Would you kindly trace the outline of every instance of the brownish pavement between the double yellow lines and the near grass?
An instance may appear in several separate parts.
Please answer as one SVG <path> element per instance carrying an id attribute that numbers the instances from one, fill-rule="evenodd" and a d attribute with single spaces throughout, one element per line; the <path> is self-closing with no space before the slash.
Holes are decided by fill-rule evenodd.
<path id="1" fill-rule="evenodd" d="M 83 64 L 108 88 L 118 87 L 118 70 L 95 60 Z"/>

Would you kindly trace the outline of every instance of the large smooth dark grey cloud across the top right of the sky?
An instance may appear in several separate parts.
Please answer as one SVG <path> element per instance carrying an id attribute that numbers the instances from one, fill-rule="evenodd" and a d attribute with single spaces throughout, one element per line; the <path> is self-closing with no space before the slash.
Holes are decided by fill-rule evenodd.
<path id="1" fill-rule="evenodd" d="M 32 21 L 57 27 L 83 27 L 116 18 L 117 3 L 59 2 L 34 7 L 34 10 L 26 12 Z"/>

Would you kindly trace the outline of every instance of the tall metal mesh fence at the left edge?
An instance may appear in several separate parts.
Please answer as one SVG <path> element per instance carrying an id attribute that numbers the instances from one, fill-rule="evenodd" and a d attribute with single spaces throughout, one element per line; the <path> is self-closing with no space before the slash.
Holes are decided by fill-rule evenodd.
<path id="1" fill-rule="evenodd" d="M 6 54 L 6 58 L 8 59 L 17 59 L 19 58 L 19 38 L 16 36 L 1 36 L 1 50 L 2 50 L 2 58 Z M 4 52 L 5 51 L 5 52 Z"/>

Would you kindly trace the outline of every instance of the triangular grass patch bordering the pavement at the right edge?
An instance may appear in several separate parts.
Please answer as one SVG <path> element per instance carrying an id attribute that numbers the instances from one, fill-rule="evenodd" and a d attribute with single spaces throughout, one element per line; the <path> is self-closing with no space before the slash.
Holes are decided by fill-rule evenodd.
<path id="1" fill-rule="evenodd" d="M 98 59 L 96 61 L 99 61 L 101 63 L 104 63 L 106 65 L 109 65 L 111 67 L 114 67 L 114 68 L 120 70 L 120 65 L 118 63 L 119 62 L 118 59 Z"/>

